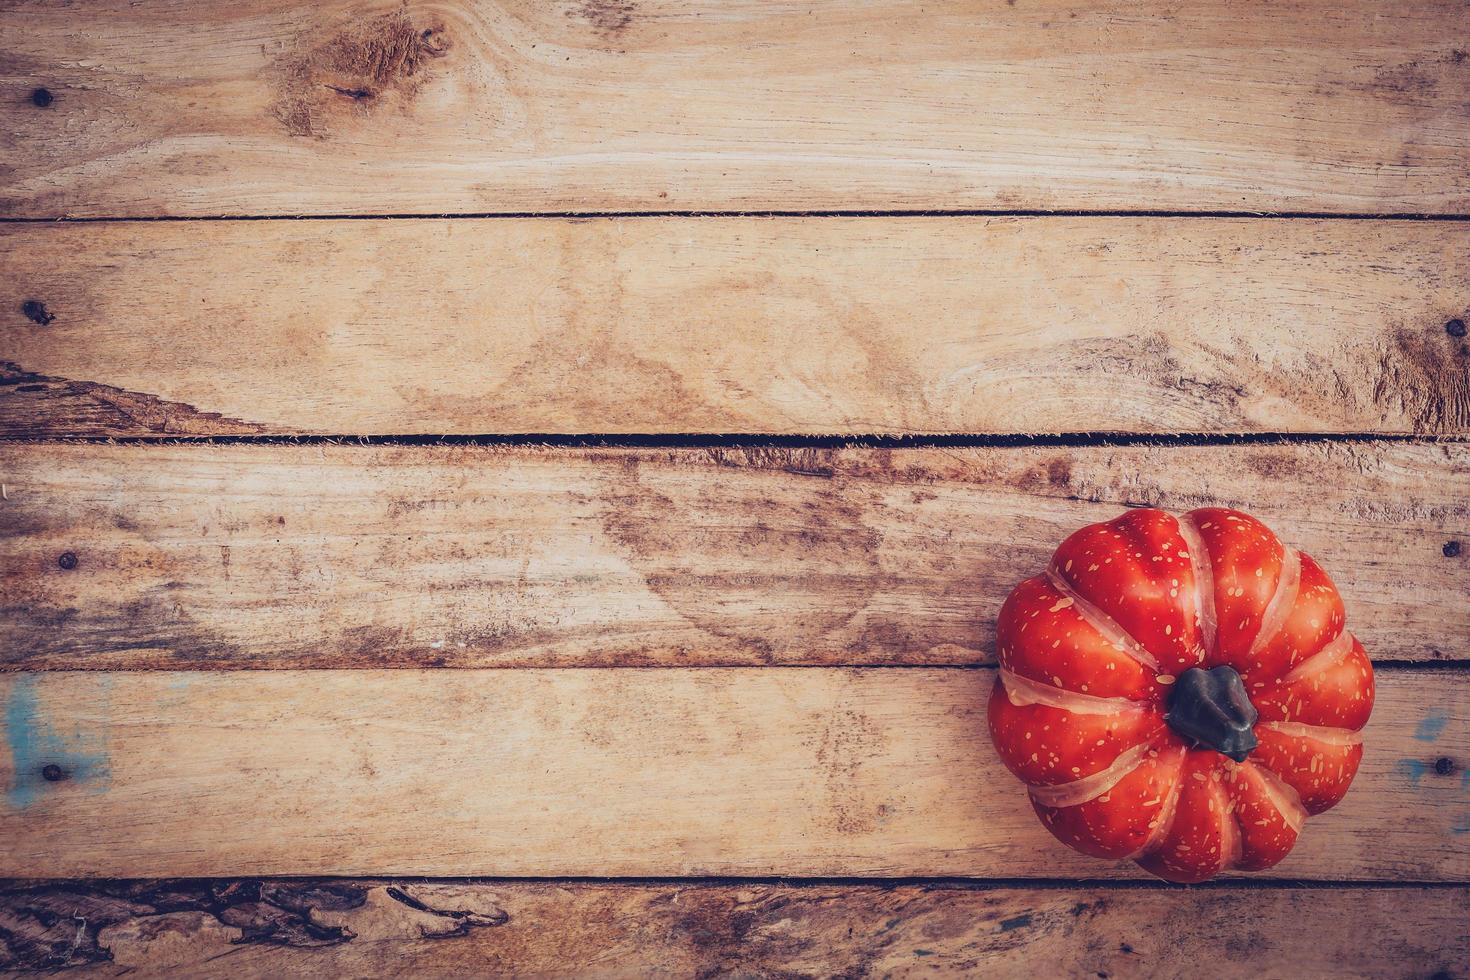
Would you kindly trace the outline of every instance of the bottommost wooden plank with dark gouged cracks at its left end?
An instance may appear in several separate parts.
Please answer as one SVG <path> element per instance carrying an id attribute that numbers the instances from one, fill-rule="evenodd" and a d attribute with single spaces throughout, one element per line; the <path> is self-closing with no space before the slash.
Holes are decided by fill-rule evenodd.
<path id="1" fill-rule="evenodd" d="M 1467 904 L 1464 887 L 1423 886 L 51 883 L 0 892 L 0 968 L 222 979 L 1129 977 L 1188 976 L 1208 955 L 1211 977 L 1383 977 L 1408 964 L 1416 976 L 1461 976 Z"/>

